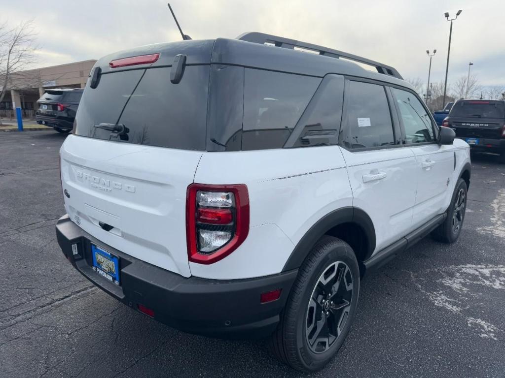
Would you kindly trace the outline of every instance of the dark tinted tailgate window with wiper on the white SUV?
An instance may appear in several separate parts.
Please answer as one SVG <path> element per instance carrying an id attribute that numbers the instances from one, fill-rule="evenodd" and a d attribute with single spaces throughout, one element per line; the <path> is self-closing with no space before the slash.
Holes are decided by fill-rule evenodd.
<path id="1" fill-rule="evenodd" d="M 170 82 L 170 70 L 152 68 L 102 75 L 98 86 L 88 87 L 82 97 L 76 134 L 205 150 L 209 66 L 187 66 L 179 84 Z M 122 124 L 124 128 L 112 133 L 96 127 L 100 123 Z"/>

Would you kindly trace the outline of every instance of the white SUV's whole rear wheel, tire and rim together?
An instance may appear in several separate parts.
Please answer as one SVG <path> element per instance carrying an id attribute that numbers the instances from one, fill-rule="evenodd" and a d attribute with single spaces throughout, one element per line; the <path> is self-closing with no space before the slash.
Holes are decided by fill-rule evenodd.
<path id="1" fill-rule="evenodd" d="M 340 239 L 323 236 L 298 271 L 280 323 L 269 341 L 271 353 L 301 371 L 325 366 L 349 332 L 359 290 L 360 272 L 354 251 Z M 328 299 L 330 291 L 334 296 Z"/>

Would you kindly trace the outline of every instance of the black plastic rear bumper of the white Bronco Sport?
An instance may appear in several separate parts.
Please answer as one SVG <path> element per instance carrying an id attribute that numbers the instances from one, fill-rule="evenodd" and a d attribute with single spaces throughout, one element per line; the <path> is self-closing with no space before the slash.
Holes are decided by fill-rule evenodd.
<path id="1" fill-rule="evenodd" d="M 58 243 L 72 265 L 89 281 L 137 309 L 154 310 L 154 319 L 184 332 L 224 337 L 261 338 L 279 322 L 297 270 L 244 280 L 184 278 L 128 256 L 86 233 L 68 215 L 56 224 Z M 72 253 L 77 244 L 78 255 Z M 121 286 L 91 269 L 91 247 L 96 244 L 120 258 Z M 261 293 L 282 289 L 281 297 L 260 303 Z"/>

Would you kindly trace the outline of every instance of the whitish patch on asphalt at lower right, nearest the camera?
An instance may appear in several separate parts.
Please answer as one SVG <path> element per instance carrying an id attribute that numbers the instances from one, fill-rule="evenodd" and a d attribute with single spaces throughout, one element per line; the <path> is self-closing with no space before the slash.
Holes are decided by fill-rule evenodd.
<path id="1" fill-rule="evenodd" d="M 436 306 L 464 317 L 468 326 L 476 329 L 480 337 L 498 340 L 496 335 L 500 330 L 495 325 L 468 313 L 480 312 L 475 307 L 476 299 L 481 295 L 475 290 L 476 285 L 505 290 L 505 265 L 467 264 L 410 274 L 419 291 Z M 435 287 L 428 288 L 432 283 Z"/>

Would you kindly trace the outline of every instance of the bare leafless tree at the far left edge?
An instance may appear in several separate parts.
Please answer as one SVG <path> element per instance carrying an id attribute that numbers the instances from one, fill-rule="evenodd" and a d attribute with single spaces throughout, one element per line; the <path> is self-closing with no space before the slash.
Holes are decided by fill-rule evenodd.
<path id="1" fill-rule="evenodd" d="M 27 70 L 35 62 L 36 33 L 33 20 L 25 21 L 14 28 L 0 24 L 0 102 L 15 81 L 33 81 L 19 72 Z M 19 86 L 19 83 L 17 84 Z M 0 119 L 0 124 L 2 120 Z"/>

